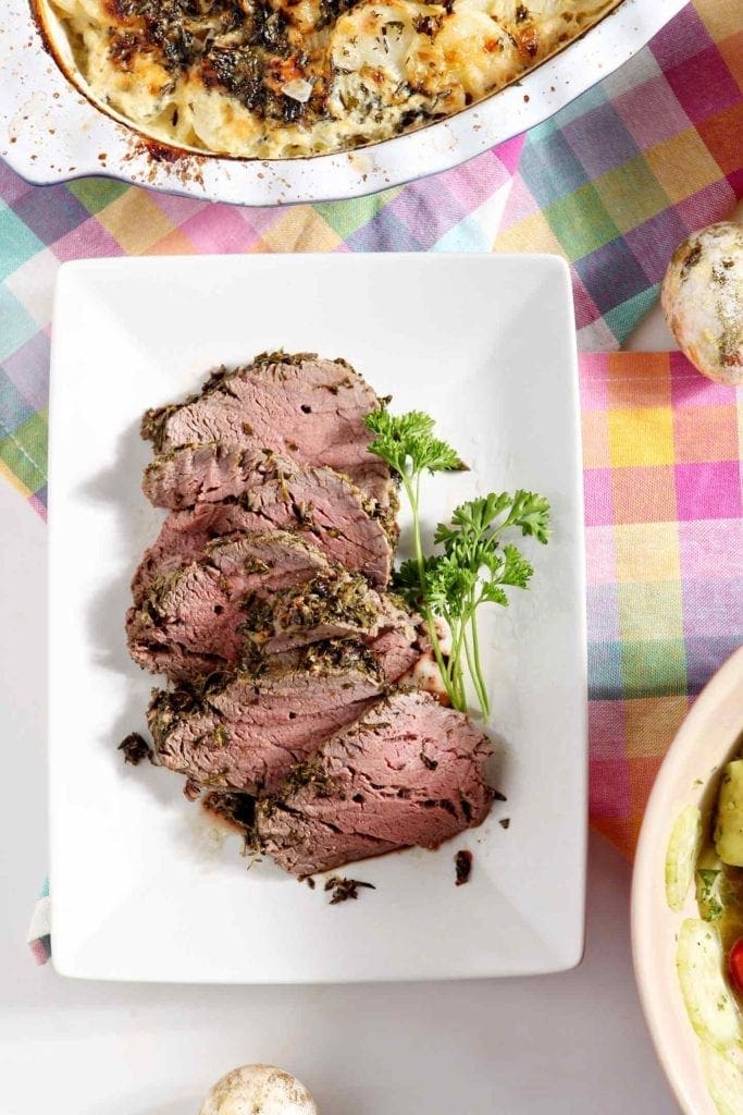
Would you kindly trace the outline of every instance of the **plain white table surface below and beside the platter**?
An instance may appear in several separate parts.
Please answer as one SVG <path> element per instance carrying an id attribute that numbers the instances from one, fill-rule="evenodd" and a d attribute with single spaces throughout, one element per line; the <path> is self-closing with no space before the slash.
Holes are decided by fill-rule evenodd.
<path id="1" fill-rule="evenodd" d="M 630 347 L 672 347 L 657 312 Z M 599 837 L 586 959 L 563 976 L 199 988 L 36 968 L 25 934 L 47 866 L 46 535 L 1 481 L 0 532 L 0 1115 L 196 1115 L 214 1079 L 255 1060 L 304 1079 L 322 1115 L 677 1112 L 634 987 L 629 866 Z"/>

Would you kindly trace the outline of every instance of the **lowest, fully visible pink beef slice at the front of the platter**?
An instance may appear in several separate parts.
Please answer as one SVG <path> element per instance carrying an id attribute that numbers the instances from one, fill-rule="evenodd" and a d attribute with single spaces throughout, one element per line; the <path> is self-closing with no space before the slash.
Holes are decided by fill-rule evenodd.
<path id="1" fill-rule="evenodd" d="M 437 847 L 485 821 L 491 753 L 462 712 L 428 694 L 394 694 L 258 803 L 257 844 L 301 876 L 411 845 Z"/>

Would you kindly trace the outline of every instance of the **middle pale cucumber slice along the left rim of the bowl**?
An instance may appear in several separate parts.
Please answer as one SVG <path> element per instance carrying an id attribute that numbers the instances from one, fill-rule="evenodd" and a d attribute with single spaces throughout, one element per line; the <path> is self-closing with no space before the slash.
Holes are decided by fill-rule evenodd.
<path id="1" fill-rule="evenodd" d="M 737 1007 L 724 976 L 720 933 L 714 925 L 690 918 L 681 927 L 676 970 L 692 1026 L 718 1049 L 741 1044 Z"/>

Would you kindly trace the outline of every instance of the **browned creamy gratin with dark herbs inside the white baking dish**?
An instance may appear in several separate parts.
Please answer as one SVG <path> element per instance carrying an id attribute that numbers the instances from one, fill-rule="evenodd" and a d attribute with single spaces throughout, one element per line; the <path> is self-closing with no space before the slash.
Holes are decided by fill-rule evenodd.
<path id="1" fill-rule="evenodd" d="M 516 81 L 618 0 L 50 0 L 94 96 L 214 154 L 349 151 Z"/>

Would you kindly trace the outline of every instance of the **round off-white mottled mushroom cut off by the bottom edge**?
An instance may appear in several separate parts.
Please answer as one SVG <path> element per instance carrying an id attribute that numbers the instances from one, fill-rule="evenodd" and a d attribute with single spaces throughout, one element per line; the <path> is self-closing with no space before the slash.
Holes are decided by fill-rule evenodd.
<path id="1" fill-rule="evenodd" d="M 243 1065 L 209 1090 L 199 1115 L 319 1115 L 295 1077 L 273 1065 Z"/>

